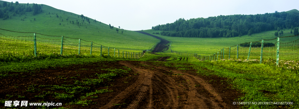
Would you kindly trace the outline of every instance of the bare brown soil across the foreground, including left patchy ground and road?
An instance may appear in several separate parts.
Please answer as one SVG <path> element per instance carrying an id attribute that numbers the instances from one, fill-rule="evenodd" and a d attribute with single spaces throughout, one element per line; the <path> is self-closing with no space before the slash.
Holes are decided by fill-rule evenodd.
<path id="1" fill-rule="evenodd" d="M 163 51 L 167 47 L 165 46 L 167 43 L 165 43 L 163 42 L 160 46 L 157 46 L 155 52 Z M 166 61 L 168 58 L 161 57 L 158 61 Z M 63 107 L 72 109 L 240 108 L 240 105 L 233 105 L 233 102 L 236 102 L 234 100 L 242 96 L 242 94 L 232 89 L 231 85 L 226 82 L 226 78 L 217 77 L 216 75 L 202 76 L 198 75 L 192 67 L 185 67 L 185 70 L 180 70 L 179 67 L 174 67 L 175 65 L 165 66 L 163 63 L 165 62 L 109 61 L 73 65 L 64 68 L 41 69 L 32 72 L 10 72 L 9 74 L 13 75 L 1 78 L 0 99 L 55 102 L 62 103 Z M 128 67 L 132 70 L 128 70 Z M 74 85 L 76 80 L 82 81 L 85 78 L 96 79 L 96 73 L 107 73 L 103 69 L 123 69 L 128 70 L 128 73 L 114 77 L 111 81 L 105 80 L 98 85 Z M 34 85 L 35 89 L 28 91 L 30 85 Z M 37 97 L 41 93 L 44 94 L 44 92 L 49 91 L 66 93 L 63 90 L 51 90 L 47 87 L 39 87 L 40 85 L 74 85 L 89 87 L 90 89 L 76 93 L 73 99 L 60 100 L 54 98 L 53 94 L 45 94 L 44 97 Z M 91 100 L 88 102 L 88 105 L 66 104 L 75 99 L 80 99 L 87 92 L 94 92 L 101 89 L 113 91 L 94 94 L 93 98 L 89 96 L 83 99 Z M 49 108 L 58 107 L 60 106 L 49 106 Z M 0 108 L 4 108 L 4 103 L 0 104 Z M 38 107 L 28 106 L 28 108 Z"/>

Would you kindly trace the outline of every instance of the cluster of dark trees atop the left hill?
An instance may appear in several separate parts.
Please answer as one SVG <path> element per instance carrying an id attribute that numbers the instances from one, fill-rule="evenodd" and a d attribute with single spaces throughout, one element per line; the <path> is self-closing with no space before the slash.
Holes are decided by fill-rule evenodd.
<path id="1" fill-rule="evenodd" d="M 6 2 L 3 1 L 2 4 L 0 4 L 0 18 L 5 20 L 8 19 L 9 17 L 11 18 L 12 16 L 16 16 L 16 14 L 23 15 L 26 12 L 31 12 L 33 11 L 33 15 L 38 14 L 39 12 L 42 12 L 42 6 L 38 4 L 34 4 L 33 6 L 29 6 L 29 3 L 25 4 L 19 4 L 18 1 L 15 3 L 13 2 Z M 2 8 L 2 9 L 1 9 Z M 12 13 L 12 15 L 8 15 L 9 13 Z"/>

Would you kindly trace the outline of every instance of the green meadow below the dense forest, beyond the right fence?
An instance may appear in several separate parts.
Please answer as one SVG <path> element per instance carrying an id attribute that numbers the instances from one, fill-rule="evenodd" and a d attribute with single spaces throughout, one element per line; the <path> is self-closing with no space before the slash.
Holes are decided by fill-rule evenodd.
<path id="1" fill-rule="evenodd" d="M 290 33 L 290 29 L 283 30 L 283 35 L 279 37 L 293 36 Z M 144 30 L 149 34 L 153 32 L 161 32 L 154 30 Z M 153 34 L 155 36 L 161 37 L 172 41 L 171 49 L 178 52 L 189 52 L 197 53 L 200 55 L 210 55 L 215 52 L 219 52 L 222 48 L 229 48 L 230 46 L 235 46 L 240 43 L 245 42 L 256 42 L 259 40 L 270 40 L 276 38 L 274 36 L 275 31 L 265 31 L 261 33 L 252 34 L 252 36 L 243 35 L 241 37 L 231 37 L 231 38 L 187 38 L 187 37 L 168 37 L 159 34 Z M 286 37 L 280 38 L 280 43 L 287 43 L 297 40 L 299 37 Z M 277 40 L 270 40 L 265 42 L 275 43 Z"/>

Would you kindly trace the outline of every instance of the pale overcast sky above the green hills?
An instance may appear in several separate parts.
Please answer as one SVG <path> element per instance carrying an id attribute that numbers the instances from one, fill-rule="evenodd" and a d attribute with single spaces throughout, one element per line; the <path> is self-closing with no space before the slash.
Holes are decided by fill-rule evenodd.
<path id="1" fill-rule="evenodd" d="M 179 18 L 299 10 L 299 0 L 18 0 L 18 2 L 46 4 L 71 13 L 83 14 L 114 27 L 120 26 L 134 31 L 172 23 Z"/>

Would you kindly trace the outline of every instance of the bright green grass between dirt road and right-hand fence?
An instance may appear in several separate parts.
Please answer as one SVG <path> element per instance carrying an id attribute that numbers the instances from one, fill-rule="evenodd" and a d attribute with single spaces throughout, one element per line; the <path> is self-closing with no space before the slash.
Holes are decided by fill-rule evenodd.
<path id="1" fill-rule="evenodd" d="M 242 105 L 243 108 L 298 108 L 299 65 L 298 61 L 283 61 L 275 66 L 276 60 L 218 60 L 198 61 L 194 57 L 181 56 L 173 53 L 157 53 L 170 56 L 169 61 L 161 66 L 176 66 L 186 70 L 193 67 L 198 75 L 228 78 L 228 84 L 239 90 L 244 96 L 239 96 L 239 102 L 272 102 L 267 105 Z M 186 60 L 187 58 L 187 60 Z M 181 59 L 181 61 L 178 61 Z M 191 64 L 191 66 L 189 65 Z M 229 88 L 229 87 L 227 87 Z M 276 104 L 292 102 L 293 105 Z"/>

